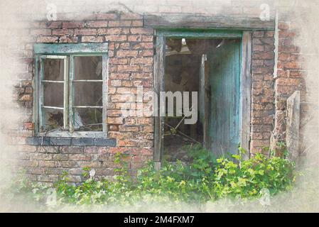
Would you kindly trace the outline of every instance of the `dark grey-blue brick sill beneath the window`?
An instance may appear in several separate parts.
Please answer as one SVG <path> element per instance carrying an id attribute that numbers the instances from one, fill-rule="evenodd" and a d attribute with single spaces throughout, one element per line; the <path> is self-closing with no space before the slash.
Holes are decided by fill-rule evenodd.
<path id="1" fill-rule="evenodd" d="M 113 138 L 67 138 L 67 137 L 28 137 L 28 145 L 58 145 L 58 146 L 108 146 L 115 147 L 117 140 Z"/>

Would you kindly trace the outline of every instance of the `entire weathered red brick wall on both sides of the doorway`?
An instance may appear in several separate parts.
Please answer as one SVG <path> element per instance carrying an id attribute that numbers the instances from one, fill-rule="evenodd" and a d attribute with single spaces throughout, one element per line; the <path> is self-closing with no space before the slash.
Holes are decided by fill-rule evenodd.
<path id="1" fill-rule="evenodd" d="M 256 9 L 254 11 L 251 10 L 252 6 L 239 1 L 232 1 L 229 7 L 237 14 L 244 13 L 246 9 L 252 16 L 258 16 L 260 4 L 258 2 L 253 6 Z M 161 9 L 183 9 L 185 13 L 191 11 L 185 6 L 178 7 Z M 202 13 L 207 13 L 206 8 L 202 5 L 197 10 L 202 9 Z M 264 146 L 269 146 L 274 127 L 281 133 L 284 131 L 284 121 L 280 120 L 285 114 L 286 98 L 296 89 L 304 91 L 306 87 L 301 70 L 303 60 L 293 44 L 296 31 L 285 22 L 279 23 L 279 29 L 276 79 L 273 76 L 274 31 L 253 33 L 252 153 L 262 152 Z M 131 99 L 129 94 L 136 94 L 136 85 L 143 84 L 144 92 L 153 91 L 153 30 L 144 28 L 142 16 L 136 13 L 90 13 L 81 21 L 33 21 L 25 32 L 23 48 L 15 53 L 21 64 L 18 66 L 20 79 L 16 84 L 14 99 L 26 111 L 26 120 L 12 133 L 14 136 L 11 138 L 11 143 L 16 145 L 14 149 L 18 158 L 22 160 L 20 167 L 36 181 L 53 182 L 63 171 L 67 171 L 72 182 L 80 182 L 82 167 L 93 167 L 98 177 L 114 175 L 114 168 L 118 167 L 113 162 L 114 154 L 120 152 L 128 155 L 126 161 L 134 175 L 137 167 L 153 158 L 153 118 L 123 118 L 121 107 L 126 106 Z M 33 135 L 33 43 L 103 42 L 109 43 L 108 136 L 117 139 L 117 146 L 25 145 L 26 137 Z M 141 109 L 141 106 L 133 103 L 131 106 Z"/>

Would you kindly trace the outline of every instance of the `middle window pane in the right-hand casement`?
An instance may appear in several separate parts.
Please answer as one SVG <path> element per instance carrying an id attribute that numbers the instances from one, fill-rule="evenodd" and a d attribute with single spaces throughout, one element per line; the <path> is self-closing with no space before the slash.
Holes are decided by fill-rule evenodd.
<path id="1" fill-rule="evenodd" d="M 102 82 L 74 82 L 75 106 L 102 106 Z"/>

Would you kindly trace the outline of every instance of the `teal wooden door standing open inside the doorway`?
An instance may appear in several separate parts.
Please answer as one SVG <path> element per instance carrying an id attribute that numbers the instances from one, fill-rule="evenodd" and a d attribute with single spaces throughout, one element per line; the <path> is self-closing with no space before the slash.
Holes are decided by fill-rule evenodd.
<path id="1" fill-rule="evenodd" d="M 237 153 L 239 145 L 240 40 L 210 52 L 209 145 L 215 155 Z"/>

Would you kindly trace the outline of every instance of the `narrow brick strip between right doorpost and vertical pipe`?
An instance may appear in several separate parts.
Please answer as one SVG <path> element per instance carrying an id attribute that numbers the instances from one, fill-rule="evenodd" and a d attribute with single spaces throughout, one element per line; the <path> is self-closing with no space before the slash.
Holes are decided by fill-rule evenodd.
<path id="1" fill-rule="evenodd" d="M 274 48 L 274 31 L 253 33 L 251 153 L 269 147 L 273 129 Z"/>

